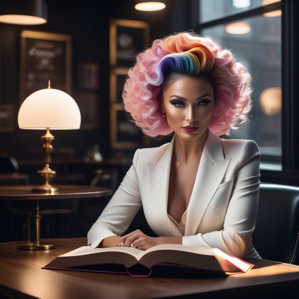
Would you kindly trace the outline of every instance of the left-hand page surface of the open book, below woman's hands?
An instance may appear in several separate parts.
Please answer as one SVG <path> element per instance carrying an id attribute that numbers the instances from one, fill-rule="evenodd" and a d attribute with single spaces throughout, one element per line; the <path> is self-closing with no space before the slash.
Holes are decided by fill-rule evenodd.
<path id="1" fill-rule="evenodd" d="M 132 247 L 125 247 L 125 246 L 118 246 L 118 247 L 108 247 L 108 248 L 91 248 L 90 246 L 82 246 L 73 251 L 67 252 L 65 254 L 59 255 L 59 257 L 72 257 L 77 255 L 86 255 L 86 254 L 93 254 L 98 252 L 124 252 L 134 256 L 136 259 L 140 259 L 141 256 L 145 254 L 145 251 L 132 248 Z"/>

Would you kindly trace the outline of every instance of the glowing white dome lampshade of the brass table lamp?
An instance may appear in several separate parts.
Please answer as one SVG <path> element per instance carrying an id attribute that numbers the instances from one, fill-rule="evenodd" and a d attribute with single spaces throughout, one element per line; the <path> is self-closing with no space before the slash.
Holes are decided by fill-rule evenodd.
<path id="1" fill-rule="evenodd" d="M 75 100 L 64 91 L 40 89 L 22 103 L 18 124 L 20 129 L 80 129 L 81 114 Z"/>

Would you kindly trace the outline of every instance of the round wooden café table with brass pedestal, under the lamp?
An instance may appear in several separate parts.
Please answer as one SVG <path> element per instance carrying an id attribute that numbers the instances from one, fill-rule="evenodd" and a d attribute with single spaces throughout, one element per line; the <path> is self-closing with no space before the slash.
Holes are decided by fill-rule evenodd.
<path id="1" fill-rule="evenodd" d="M 40 200 L 46 199 L 66 199 L 66 198 L 91 198 L 107 196 L 112 190 L 104 187 L 94 187 L 85 185 L 55 185 L 59 188 L 57 192 L 35 193 L 31 189 L 36 185 L 9 185 L 0 186 L 0 200 L 33 200 L 34 209 L 32 217 L 35 222 L 35 236 L 33 242 L 19 244 L 18 249 L 25 250 L 46 250 L 55 249 L 54 243 L 42 243 L 40 240 Z"/>

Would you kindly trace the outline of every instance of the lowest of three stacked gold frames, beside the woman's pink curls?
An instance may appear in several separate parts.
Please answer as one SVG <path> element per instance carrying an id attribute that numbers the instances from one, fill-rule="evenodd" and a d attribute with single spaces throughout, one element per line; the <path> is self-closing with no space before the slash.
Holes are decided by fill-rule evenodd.
<path id="1" fill-rule="evenodd" d="M 129 120 L 129 114 L 121 104 L 114 104 L 110 110 L 111 146 L 113 148 L 138 148 L 144 142 L 144 134 L 135 123 Z"/>

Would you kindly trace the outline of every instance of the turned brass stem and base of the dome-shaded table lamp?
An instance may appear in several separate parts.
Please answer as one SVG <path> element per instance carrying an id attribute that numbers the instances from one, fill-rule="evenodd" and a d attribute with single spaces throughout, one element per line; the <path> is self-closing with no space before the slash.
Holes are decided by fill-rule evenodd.
<path id="1" fill-rule="evenodd" d="M 51 162 L 51 152 L 53 151 L 53 146 L 51 145 L 52 140 L 54 140 L 54 136 L 50 133 L 50 128 L 46 128 L 46 134 L 41 137 L 45 143 L 42 145 L 42 150 L 45 154 L 45 167 L 42 170 L 38 170 L 37 174 L 42 177 L 44 184 L 41 186 L 36 186 L 31 189 L 32 192 L 56 192 L 59 189 L 52 187 L 49 184 L 49 180 L 53 179 L 56 176 L 56 171 L 52 170 L 49 167 Z"/>

